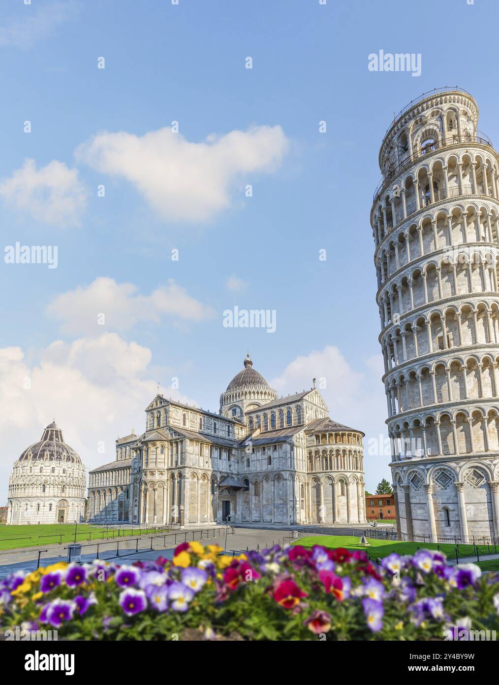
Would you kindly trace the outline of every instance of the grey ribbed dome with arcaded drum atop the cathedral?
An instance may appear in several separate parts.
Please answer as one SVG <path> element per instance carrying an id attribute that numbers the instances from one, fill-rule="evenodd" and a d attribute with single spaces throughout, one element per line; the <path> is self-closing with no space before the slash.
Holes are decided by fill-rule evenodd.
<path id="1" fill-rule="evenodd" d="M 244 421 L 244 412 L 274 399 L 277 399 L 276 390 L 253 369 L 253 361 L 247 354 L 244 369 L 235 374 L 225 393 L 220 395 L 220 414 Z"/>

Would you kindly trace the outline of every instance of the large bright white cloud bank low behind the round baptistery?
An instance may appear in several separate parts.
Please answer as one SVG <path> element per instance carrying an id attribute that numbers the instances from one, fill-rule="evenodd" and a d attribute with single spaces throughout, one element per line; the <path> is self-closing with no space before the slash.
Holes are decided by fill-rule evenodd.
<path id="1" fill-rule="evenodd" d="M 36 364 L 19 347 L 0 348 L 0 501 L 12 464 L 53 418 L 88 468 L 114 460 L 118 435 L 144 431 L 144 409 L 156 393 L 151 351 L 115 334 L 97 340 L 55 341 Z M 165 397 L 194 400 L 168 388 Z M 105 453 L 97 451 L 103 440 Z"/>

